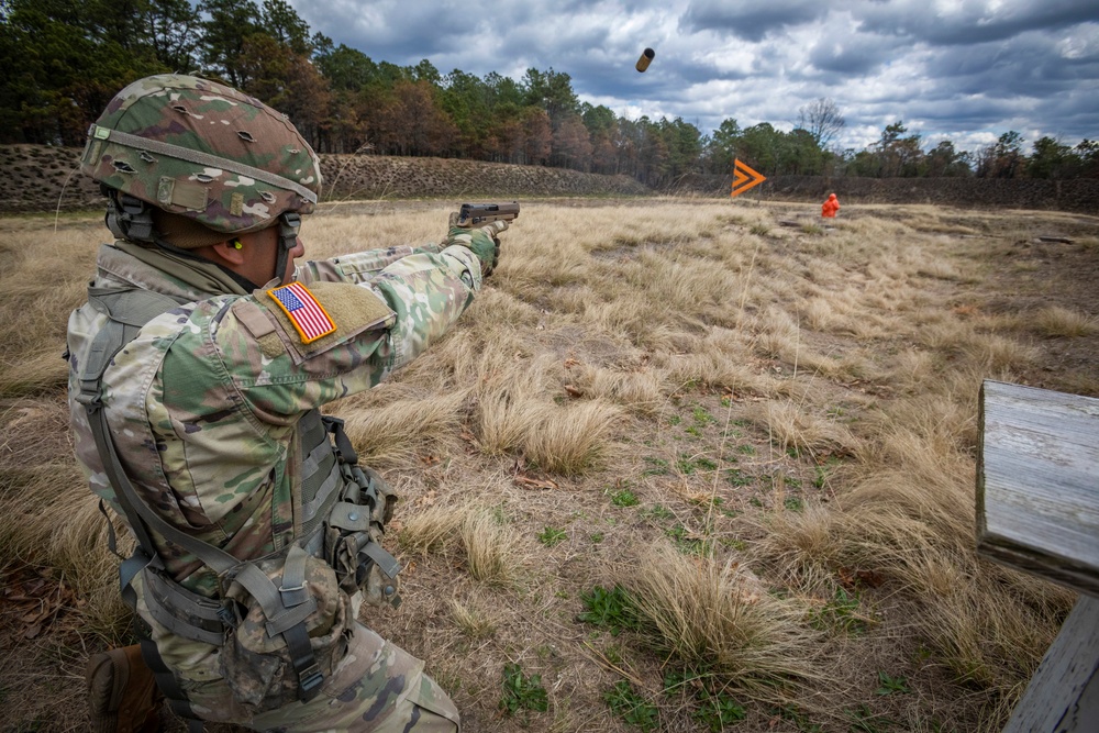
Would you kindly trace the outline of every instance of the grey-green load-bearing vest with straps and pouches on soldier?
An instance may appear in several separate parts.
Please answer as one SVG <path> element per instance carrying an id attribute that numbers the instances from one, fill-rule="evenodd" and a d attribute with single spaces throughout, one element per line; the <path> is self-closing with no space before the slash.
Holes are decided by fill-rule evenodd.
<path id="1" fill-rule="evenodd" d="M 137 540 L 133 556 L 120 567 L 123 599 L 136 608 L 131 582 L 140 573 L 143 600 L 159 624 L 185 638 L 215 646 L 223 645 L 227 634 L 237 628 L 242 611 L 258 606 L 265 621 L 264 633 L 286 643 L 297 678 L 297 697 L 303 701 L 312 699 L 323 674 L 306 628 L 306 619 L 317 609 L 317 600 L 306 584 L 307 565 L 315 562 L 311 558 L 319 558 L 335 570 L 342 592 L 354 595 L 366 590 L 368 601 L 398 606 L 396 579 L 400 565 L 377 542 L 396 498 L 380 476 L 357 465 L 355 451 L 343 432 L 343 421 L 311 410 L 298 423 L 302 466 L 298 492 L 301 507 L 296 514 L 301 517 L 301 530 L 286 548 L 267 557 L 238 560 L 220 547 L 186 534 L 154 512 L 136 493 L 111 438 L 102 403 L 102 378 L 113 356 L 145 323 L 184 302 L 131 287 L 91 287 L 88 301 L 109 320 L 96 334 L 85 364 L 80 365 L 80 391 L 76 399 L 87 410 L 104 471 Z M 165 571 L 152 533 L 196 556 L 218 574 L 223 588 L 232 590 L 238 586 L 244 592 L 209 598 L 184 588 Z M 114 551 L 113 530 L 111 545 Z M 252 599 L 246 607 L 240 600 L 245 597 Z M 185 696 L 159 660 L 155 645 L 146 641 L 142 648 L 173 708 L 192 718 Z"/>

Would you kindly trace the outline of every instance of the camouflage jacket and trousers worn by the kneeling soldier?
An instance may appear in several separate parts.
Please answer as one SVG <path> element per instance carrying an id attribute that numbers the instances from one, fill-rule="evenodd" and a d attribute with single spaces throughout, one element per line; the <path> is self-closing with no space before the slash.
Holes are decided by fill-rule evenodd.
<path id="1" fill-rule="evenodd" d="M 307 263 L 298 280 L 311 287 L 337 329 L 306 345 L 266 293 L 202 292 L 195 285 L 207 279 L 201 268 L 188 277 L 175 263 L 173 277 L 163 269 L 168 263 L 157 262 L 162 257 L 125 242 L 100 252 L 98 287 L 132 284 L 195 299 L 151 321 L 115 357 L 104 377 L 109 421 L 144 499 L 178 526 L 242 559 L 276 553 L 295 536 L 293 493 L 302 460 L 296 419 L 368 389 L 410 362 L 449 327 L 481 281 L 477 257 L 464 246 L 396 247 Z M 209 281 L 204 287 L 213 287 Z M 74 375 L 103 320 L 88 306 L 73 313 Z M 113 503 L 87 415 L 75 401 L 71 419 L 91 488 Z M 167 544 L 157 549 L 185 587 L 218 591 L 217 577 L 192 557 Z M 315 571 L 325 575 L 325 568 Z M 348 653 L 326 676 L 322 696 L 295 703 L 292 712 L 255 714 L 233 696 L 233 687 L 248 681 L 230 686 L 222 678 L 219 647 L 174 636 L 147 611 L 143 615 L 165 663 L 207 720 L 358 730 L 352 720 L 367 715 L 380 724 L 403 696 L 457 721 L 446 696 L 421 676 L 420 662 L 354 622 L 358 599 L 338 592 L 332 578 L 315 585 L 329 593 L 319 625 L 338 628 L 333 643 L 347 643 Z M 312 630 L 310 635 L 315 638 Z M 400 714 L 411 710 L 406 706 Z M 401 718 L 401 728 L 408 722 Z"/>

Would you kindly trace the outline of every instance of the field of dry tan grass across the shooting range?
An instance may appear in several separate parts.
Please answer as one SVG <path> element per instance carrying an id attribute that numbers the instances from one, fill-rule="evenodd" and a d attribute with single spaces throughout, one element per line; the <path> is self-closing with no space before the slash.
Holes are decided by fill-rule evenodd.
<path id="1" fill-rule="evenodd" d="M 704 728 L 700 692 L 663 691 L 671 668 L 735 698 L 744 730 L 846 731 L 862 704 L 911 730 L 995 730 L 1073 598 L 974 554 L 977 389 L 1099 393 L 1087 278 L 1063 285 L 1072 268 L 1012 244 L 1046 214 L 850 206 L 820 235 L 777 223 L 814 207 L 641 203 L 524 202 L 459 325 L 335 406 L 404 495 L 404 606 L 371 625 L 426 659 L 473 731 L 624 730 L 604 701 L 622 680 L 669 730 Z M 366 211 L 309 218 L 309 256 L 437 241 L 446 207 Z M 51 647 L 74 668 L 129 633 L 57 358 L 99 221 L 0 221 L 0 316 L 21 324 L 0 346 L 0 573 L 77 591 L 80 623 L 55 622 Z M 1081 221 L 1048 225 L 1096 242 Z M 577 620 L 614 585 L 646 634 Z M 14 638 L 23 611 L 5 609 Z M 5 689 L 49 664 L 13 648 Z M 498 712 L 512 662 L 551 701 L 529 723 Z M 879 671 L 913 695 L 874 696 Z"/>

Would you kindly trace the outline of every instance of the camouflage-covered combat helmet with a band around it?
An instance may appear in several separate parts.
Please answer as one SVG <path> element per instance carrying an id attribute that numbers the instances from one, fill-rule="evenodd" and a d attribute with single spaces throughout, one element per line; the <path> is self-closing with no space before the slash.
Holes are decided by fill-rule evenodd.
<path id="1" fill-rule="evenodd" d="M 112 195 L 120 214 L 143 201 L 227 235 L 311 212 L 321 188 L 320 160 L 285 114 L 176 74 L 114 96 L 88 130 L 81 170 L 132 197 Z"/>

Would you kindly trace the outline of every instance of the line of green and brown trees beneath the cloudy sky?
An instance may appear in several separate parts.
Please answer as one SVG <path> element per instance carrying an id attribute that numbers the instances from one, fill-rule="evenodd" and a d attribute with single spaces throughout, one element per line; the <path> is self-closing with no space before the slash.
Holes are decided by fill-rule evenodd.
<path id="1" fill-rule="evenodd" d="M 865 149 L 833 145 L 835 102 L 798 111 L 793 130 L 726 119 L 710 134 L 682 118 L 629 120 L 581 102 L 567 74 L 519 79 L 429 60 L 397 66 L 311 33 L 285 0 L 0 0 L 0 143 L 84 144 L 111 97 L 151 74 L 222 80 L 289 115 L 320 153 L 462 157 L 623 174 L 650 186 L 729 174 L 767 176 L 1099 177 L 1099 142 L 1052 137 L 1024 152 L 1014 131 L 975 152 L 934 146 L 889 124 Z"/>

